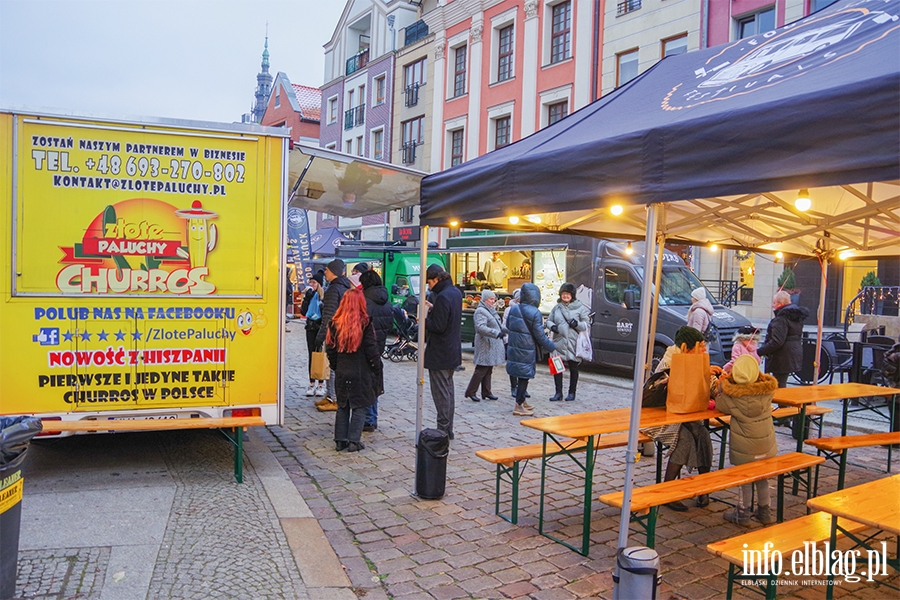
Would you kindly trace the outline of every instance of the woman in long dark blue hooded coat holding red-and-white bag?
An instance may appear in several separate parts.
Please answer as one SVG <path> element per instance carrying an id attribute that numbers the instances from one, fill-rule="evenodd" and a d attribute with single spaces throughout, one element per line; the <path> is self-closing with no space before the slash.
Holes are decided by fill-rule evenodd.
<path id="1" fill-rule="evenodd" d="M 534 379 L 537 347 L 541 346 L 547 352 L 556 350 L 556 346 L 544 333 L 544 318 L 538 309 L 540 305 L 541 291 L 533 283 L 526 283 L 522 285 L 519 303 L 507 309 L 509 347 L 506 349 L 506 372 L 510 377 L 518 379 L 513 414 L 519 417 L 534 414 L 534 408 L 525 404 L 525 394 L 528 391 L 528 380 Z"/>

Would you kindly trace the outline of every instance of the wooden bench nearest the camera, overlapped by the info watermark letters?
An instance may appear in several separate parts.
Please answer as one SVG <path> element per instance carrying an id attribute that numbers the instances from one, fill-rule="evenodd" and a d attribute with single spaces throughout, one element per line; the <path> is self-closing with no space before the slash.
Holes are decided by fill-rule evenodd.
<path id="1" fill-rule="evenodd" d="M 839 519 L 838 525 L 849 531 L 856 533 L 866 529 L 866 525 L 847 519 Z M 837 530 L 838 537 L 842 537 L 843 532 Z M 792 519 L 745 533 L 721 542 L 715 542 L 706 546 L 707 552 L 715 554 L 728 561 L 728 589 L 726 598 L 732 597 L 734 582 L 738 581 L 743 585 L 751 585 L 753 590 L 764 592 L 766 598 L 775 598 L 778 592 L 778 585 L 775 581 L 778 575 L 769 573 L 768 565 L 765 564 L 765 556 L 771 557 L 774 552 L 780 552 L 782 557 L 781 572 L 791 570 L 791 556 L 795 550 L 803 550 L 804 544 L 827 542 L 831 539 L 831 515 L 826 512 L 815 512 L 810 515 L 802 516 L 798 519 Z M 766 546 L 766 544 L 771 544 Z M 768 552 L 768 554 L 763 554 Z M 759 553 L 759 554 L 757 554 Z M 752 563 L 745 564 L 746 557 L 753 557 Z M 829 559 L 830 560 L 830 559 Z M 770 563 L 771 564 L 771 563 Z M 744 567 L 747 571 L 744 571 Z M 794 574 L 801 577 L 799 574 Z M 765 579 L 766 585 L 764 589 L 758 583 L 761 579 Z"/>

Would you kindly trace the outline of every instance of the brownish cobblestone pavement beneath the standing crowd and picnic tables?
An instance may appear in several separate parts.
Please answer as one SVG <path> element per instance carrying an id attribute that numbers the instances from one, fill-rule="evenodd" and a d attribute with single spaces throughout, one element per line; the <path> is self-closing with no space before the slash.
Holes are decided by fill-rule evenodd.
<path id="1" fill-rule="evenodd" d="M 414 429 L 416 367 L 412 362 L 386 363 L 386 393 L 379 403 L 378 430 L 363 434 L 364 451 L 337 453 L 332 442 L 333 413 L 317 412 L 306 388 L 306 347 L 303 328 L 294 324 L 287 335 L 287 409 L 285 425 L 271 427 L 264 441 L 301 492 L 341 559 L 359 597 L 377 598 L 609 598 L 618 536 L 617 509 L 594 502 L 590 558 L 572 552 L 537 532 L 537 493 L 540 468 L 532 464 L 521 485 L 518 525 L 494 515 L 493 466 L 475 456 L 480 448 L 540 441 L 538 432 L 519 425 L 512 415 L 513 400 L 503 367 L 496 369 L 494 393 L 498 401 L 473 403 L 463 398 L 472 373 L 471 354 L 464 352 L 467 369 L 456 373 L 456 439 L 447 470 L 447 493 L 439 501 L 419 500 L 414 489 Z M 435 412 L 427 392 L 424 426 L 433 427 Z M 546 368 L 532 382 L 530 402 L 535 416 L 625 407 L 631 401 L 629 377 L 594 371 L 583 373 L 575 402 L 549 403 L 552 378 Z M 828 404 L 837 408 L 838 403 Z M 838 411 L 829 417 L 825 435 L 837 435 Z M 869 424 L 851 417 L 854 427 Z M 885 430 L 884 422 L 875 423 Z M 782 452 L 794 449 L 786 428 L 779 428 Z M 715 450 L 718 451 L 717 443 Z M 598 459 L 594 491 L 621 489 L 623 450 L 603 451 Z M 854 462 L 878 470 L 852 468 L 847 485 L 884 476 L 886 451 L 854 451 Z M 655 464 L 638 464 L 637 485 L 652 483 Z M 563 473 L 549 475 L 548 529 L 556 535 L 580 539 L 580 482 Z M 836 471 L 823 469 L 820 489 L 834 490 Z M 774 482 L 772 483 L 775 492 Z M 718 494 L 734 499 L 736 491 Z M 508 497 L 508 496 L 507 496 Z M 805 496 L 788 495 L 786 518 L 805 514 Z M 705 546 L 744 528 L 725 522 L 728 505 L 712 502 L 687 513 L 662 509 L 656 550 L 662 564 L 661 598 L 724 597 L 727 564 L 713 558 Z M 757 525 L 758 526 L 758 525 Z M 632 545 L 643 537 L 632 534 Z M 891 544 L 890 551 L 894 546 Z M 890 578 L 897 584 L 896 576 Z M 823 586 L 782 587 L 783 597 L 822 598 Z M 874 584 L 842 583 L 835 597 L 884 598 L 894 592 Z M 736 597 L 751 597 L 738 590 Z"/>

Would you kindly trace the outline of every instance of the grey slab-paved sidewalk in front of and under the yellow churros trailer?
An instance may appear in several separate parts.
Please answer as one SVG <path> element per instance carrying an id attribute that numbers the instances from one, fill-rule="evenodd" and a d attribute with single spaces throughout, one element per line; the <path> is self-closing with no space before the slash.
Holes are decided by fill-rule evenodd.
<path id="1" fill-rule="evenodd" d="M 17 597 L 355 599 L 303 498 L 248 435 L 242 484 L 215 431 L 32 443 Z"/>

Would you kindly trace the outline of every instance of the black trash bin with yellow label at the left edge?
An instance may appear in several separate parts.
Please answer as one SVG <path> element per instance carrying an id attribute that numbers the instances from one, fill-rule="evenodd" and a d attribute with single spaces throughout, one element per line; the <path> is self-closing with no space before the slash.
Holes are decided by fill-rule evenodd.
<path id="1" fill-rule="evenodd" d="M 0 599 L 16 595 L 19 524 L 22 522 L 22 461 L 41 430 L 34 417 L 0 417 Z"/>

